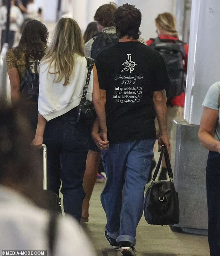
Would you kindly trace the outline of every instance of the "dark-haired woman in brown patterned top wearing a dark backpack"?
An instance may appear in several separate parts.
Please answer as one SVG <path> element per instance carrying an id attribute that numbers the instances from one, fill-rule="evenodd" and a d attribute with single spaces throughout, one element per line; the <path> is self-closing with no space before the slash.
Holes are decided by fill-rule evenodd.
<path id="1" fill-rule="evenodd" d="M 8 50 L 7 70 L 12 104 L 23 100 L 33 133 L 37 126 L 39 75 L 37 65 L 47 47 L 48 30 L 37 20 L 28 21 L 17 47 Z M 35 90 L 34 90 L 35 89 Z"/>

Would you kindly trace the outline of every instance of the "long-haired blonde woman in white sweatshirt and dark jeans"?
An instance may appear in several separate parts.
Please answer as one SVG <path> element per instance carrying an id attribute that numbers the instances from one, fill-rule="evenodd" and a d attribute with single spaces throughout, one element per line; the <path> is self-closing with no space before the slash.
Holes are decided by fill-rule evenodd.
<path id="1" fill-rule="evenodd" d="M 87 68 L 83 37 L 77 22 L 61 18 L 43 57 L 39 74 L 39 118 L 33 145 L 48 148 L 48 189 L 64 198 L 64 211 L 81 219 L 83 175 L 88 152 L 86 123 L 76 122 Z M 108 147 L 105 110 L 96 67 L 91 72 L 87 99 L 92 100 L 100 123 L 103 148 Z M 102 144 L 102 143 L 101 143 Z M 102 145 L 100 145 L 102 147 Z"/>

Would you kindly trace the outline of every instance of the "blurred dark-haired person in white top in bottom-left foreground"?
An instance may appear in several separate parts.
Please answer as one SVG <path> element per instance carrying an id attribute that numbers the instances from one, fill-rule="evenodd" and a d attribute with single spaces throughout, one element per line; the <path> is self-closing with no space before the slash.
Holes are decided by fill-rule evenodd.
<path id="1" fill-rule="evenodd" d="M 54 239 L 50 242 L 51 215 L 35 204 L 42 192 L 40 151 L 31 146 L 28 121 L 18 109 L 18 106 L 7 106 L 1 99 L 1 250 L 47 250 L 47 255 L 54 256 L 95 256 L 84 232 L 69 216 L 57 217 L 52 222 Z"/>

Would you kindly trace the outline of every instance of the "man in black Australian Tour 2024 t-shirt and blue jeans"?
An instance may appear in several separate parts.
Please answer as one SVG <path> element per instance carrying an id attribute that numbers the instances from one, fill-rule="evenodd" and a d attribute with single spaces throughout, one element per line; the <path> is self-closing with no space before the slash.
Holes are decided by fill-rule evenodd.
<path id="1" fill-rule="evenodd" d="M 96 60 L 106 102 L 109 148 L 101 140 L 97 122 L 92 135 L 100 149 L 108 148 L 102 151 L 107 175 L 101 194 L 107 217 L 105 237 L 121 255 L 136 255 L 136 227 L 143 214 L 144 188 L 154 155 L 155 116 L 161 133 L 159 146 L 170 145 L 165 94 L 170 79 L 160 53 L 138 42 L 140 10 L 124 4 L 113 18 L 120 40 L 102 50 Z"/>

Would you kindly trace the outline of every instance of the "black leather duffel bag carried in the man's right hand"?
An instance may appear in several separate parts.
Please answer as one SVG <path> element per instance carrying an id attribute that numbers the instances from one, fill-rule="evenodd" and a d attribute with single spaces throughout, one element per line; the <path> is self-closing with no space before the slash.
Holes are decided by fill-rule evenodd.
<path id="1" fill-rule="evenodd" d="M 170 180 L 155 181 L 164 154 Z M 144 217 L 148 224 L 173 225 L 179 223 L 179 200 L 174 187 L 173 173 L 166 146 L 162 146 L 160 158 L 151 185 L 144 197 Z"/>

